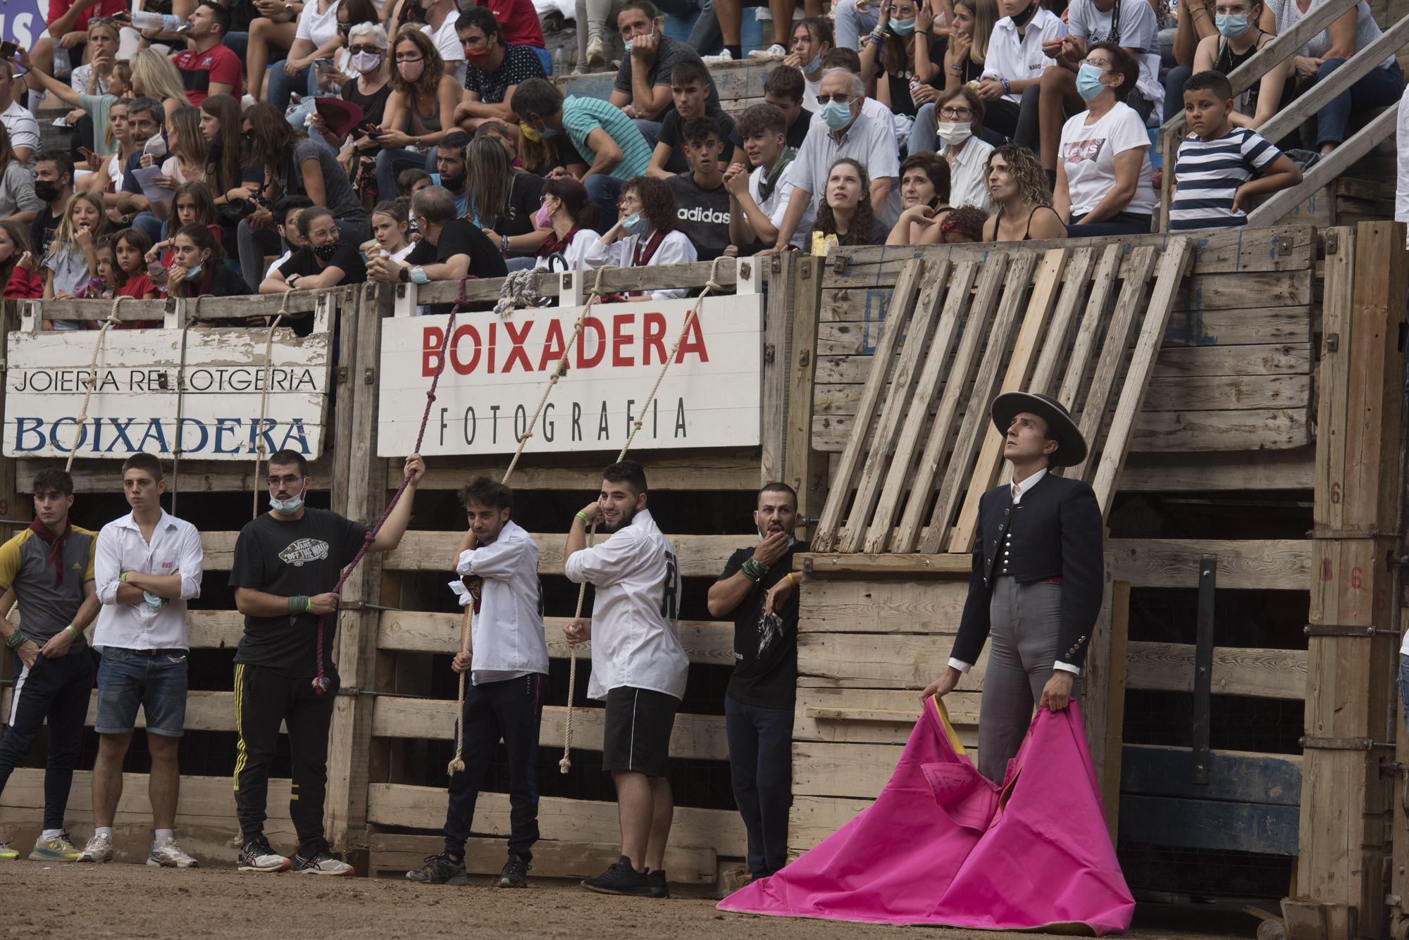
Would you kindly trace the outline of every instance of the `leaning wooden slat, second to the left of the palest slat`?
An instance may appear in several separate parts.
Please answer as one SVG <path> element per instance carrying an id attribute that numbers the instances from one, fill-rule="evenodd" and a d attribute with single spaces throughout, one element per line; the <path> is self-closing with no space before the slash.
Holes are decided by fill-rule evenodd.
<path id="1" fill-rule="evenodd" d="M 1009 255 L 995 255 L 983 266 L 978 290 L 968 310 L 968 329 L 960 338 L 958 350 L 954 353 L 954 364 L 948 370 L 944 394 L 940 397 L 938 411 L 930 424 L 930 436 L 924 442 L 924 452 L 916 463 L 914 476 L 910 480 L 910 495 L 900 511 L 900 523 L 890 542 L 892 552 L 910 552 L 920 540 L 920 529 L 924 525 L 926 511 L 930 508 L 930 493 L 936 480 L 940 478 L 940 462 L 948 450 L 950 438 L 954 435 L 954 418 L 964 401 L 974 363 L 978 357 L 978 345 L 983 339 L 983 329 L 979 324 L 989 322 L 999 300 L 1003 277 L 1007 274 Z M 943 356 L 936 352 L 940 362 L 926 363 L 926 371 L 944 367 Z M 923 424 L 921 424 L 923 428 Z"/>

